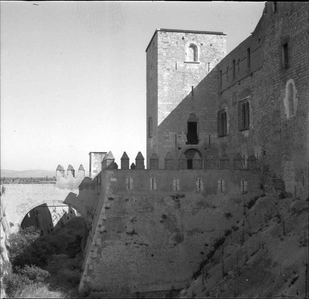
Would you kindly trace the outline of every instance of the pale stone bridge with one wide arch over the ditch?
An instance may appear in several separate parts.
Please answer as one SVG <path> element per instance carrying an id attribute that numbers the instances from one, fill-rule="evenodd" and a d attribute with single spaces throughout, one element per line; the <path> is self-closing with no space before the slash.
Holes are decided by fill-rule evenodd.
<path id="1" fill-rule="evenodd" d="M 13 233 L 31 209 L 41 204 L 68 205 L 81 214 L 89 229 L 100 194 L 99 187 L 90 177 L 57 177 L 56 183 L 4 183 L 1 186 L 1 215 Z"/>

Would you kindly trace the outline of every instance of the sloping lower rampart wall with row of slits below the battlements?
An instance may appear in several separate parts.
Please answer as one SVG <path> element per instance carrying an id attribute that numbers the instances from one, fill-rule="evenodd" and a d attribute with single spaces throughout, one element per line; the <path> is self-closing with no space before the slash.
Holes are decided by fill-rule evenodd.
<path id="1" fill-rule="evenodd" d="M 179 179 L 176 185 L 173 178 Z M 240 192 L 241 179 L 248 181 L 246 194 Z M 102 170 L 103 205 L 96 212 L 84 282 L 107 297 L 183 287 L 210 250 L 205 243 L 241 220 L 243 202 L 259 193 L 259 175 L 249 171 Z"/>

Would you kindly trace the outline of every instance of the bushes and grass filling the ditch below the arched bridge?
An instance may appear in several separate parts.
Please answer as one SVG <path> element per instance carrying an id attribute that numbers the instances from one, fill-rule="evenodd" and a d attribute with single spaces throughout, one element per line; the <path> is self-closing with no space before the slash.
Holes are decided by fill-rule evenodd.
<path id="1" fill-rule="evenodd" d="M 7 243 L 12 271 L 3 277 L 7 296 L 78 297 L 83 221 L 81 217 L 75 217 L 44 237 L 34 227 L 11 234 Z"/>

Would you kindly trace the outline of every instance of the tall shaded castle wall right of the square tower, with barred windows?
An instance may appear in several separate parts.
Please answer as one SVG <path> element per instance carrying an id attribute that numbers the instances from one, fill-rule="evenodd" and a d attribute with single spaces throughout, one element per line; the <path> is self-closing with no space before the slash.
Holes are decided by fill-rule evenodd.
<path id="1" fill-rule="evenodd" d="M 218 70 L 225 70 L 233 59 L 245 59 L 249 46 L 258 49 L 256 55 L 257 51 L 251 54 L 251 68 L 241 65 L 234 81 L 227 80 L 223 74 L 218 110 L 227 107 L 228 135 L 219 138 L 220 151 L 231 157 L 239 152 L 245 160 L 254 154 L 265 174 L 266 187 L 278 189 L 276 182 L 282 181 L 283 190 L 295 197 L 307 198 L 308 4 L 277 3 L 276 12 L 271 2 L 266 3 L 266 12 L 252 36 L 217 66 Z M 287 41 L 289 66 L 284 67 L 282 47 Z M 290 79 L 295 82 L 297 98 L 293 117 L 288 117 L 285 104 Z M 250 98 L 250 128 L 239 131 L 237 105 L 246 97 Z"/>

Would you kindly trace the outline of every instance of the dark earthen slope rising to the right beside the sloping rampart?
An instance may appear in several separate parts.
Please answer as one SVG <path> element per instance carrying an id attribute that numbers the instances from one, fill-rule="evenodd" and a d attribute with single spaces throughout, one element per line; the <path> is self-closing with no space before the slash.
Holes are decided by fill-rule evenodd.
<path id="1" fill-rule="evenodd" d="M 308 298 L 308 204 L 261 197 L 245 208 L 180 298 Z"/>

